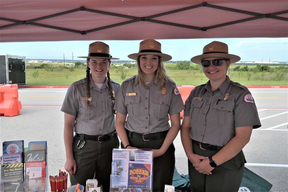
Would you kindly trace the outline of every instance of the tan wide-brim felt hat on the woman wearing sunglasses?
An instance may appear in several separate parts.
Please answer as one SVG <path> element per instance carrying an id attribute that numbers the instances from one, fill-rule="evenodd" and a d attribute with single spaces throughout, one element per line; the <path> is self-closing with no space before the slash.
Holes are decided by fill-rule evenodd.
<path id="1" fill-rule="evenodd" d="M 202 55 L 197 55 L 191 58 L 193 63 L 201 64 L 201 61 L 207 57 L 223 57 L 230 59 L 231 63 L 240 61 L 240 57 L 228 53 L 228 45 L 219 41 L 213 41 L 204 46 Z"/>

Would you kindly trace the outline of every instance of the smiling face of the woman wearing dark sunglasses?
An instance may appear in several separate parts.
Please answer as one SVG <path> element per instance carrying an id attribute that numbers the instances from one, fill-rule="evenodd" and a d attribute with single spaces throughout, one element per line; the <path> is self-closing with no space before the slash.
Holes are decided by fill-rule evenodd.
<path id="1" fill-rule="evenodd" d="M 224 59 L 223 57 L 207 57 L 204 58 L 203 60 L 209 60 L 212 61 L 214 59 Z M 226 70 L 230 66 L 230 61 L 222 61 L 222 65 L 220 66 L 214 66 L 212 62 L 210 62 L 210 66 L 208 67 L 203 67 L 202 70 L 206 77 L 210 79 L 210 81 L 219 81 L 219 82 L 224 82 L 226 79 Z"/>

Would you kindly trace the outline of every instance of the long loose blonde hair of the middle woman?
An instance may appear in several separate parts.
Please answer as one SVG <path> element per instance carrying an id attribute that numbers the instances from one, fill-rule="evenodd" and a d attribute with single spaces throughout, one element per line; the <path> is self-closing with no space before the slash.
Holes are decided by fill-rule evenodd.
<path id="1" fill-rule="evenodd" d="M 138 81 L 139 81 L 140 85 L 142 85 L 144 87 L 149 87 L 145 83 L 144 72 L 140 68 L 140 56 L 137 57 Z M 158 86 L 162 89 L 164 84 L 173 85 L 173 83 L 172 83 L 173 80 L 168 76 L 168 74 L 167 74 L 167 72 L 165 70 L 165 66 L 164 66 L 164 64 L 163 64 L 163 62 L 161 60 L 161 57 L 158 56 L 158 58 L 159 58 L 159 61 L 158 61 L 158 68 L 157 68 L 156 74 L 155 74 L 155 83 L 157 83 Z"/>

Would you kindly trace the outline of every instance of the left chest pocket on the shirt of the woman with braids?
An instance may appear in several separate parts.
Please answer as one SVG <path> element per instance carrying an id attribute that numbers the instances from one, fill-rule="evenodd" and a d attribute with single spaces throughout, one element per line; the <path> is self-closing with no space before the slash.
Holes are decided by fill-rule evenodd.
<path id="1" fill-rule="evenodd" d="M 96 108 L 97 108 L 97 103 L 96 100 L 90 101 L 91 105 L 92 105 L 92 109 L 90 110 L 90 108 L 87 106 L 87 100 L 81 100 L 79 102 L 79 109 L 78 109 L 78 113 L 77 116 L 78 118 L 82 119 L 82 120 L 91 120 L 91 119 L 95 119 L 96 118 Z"/>

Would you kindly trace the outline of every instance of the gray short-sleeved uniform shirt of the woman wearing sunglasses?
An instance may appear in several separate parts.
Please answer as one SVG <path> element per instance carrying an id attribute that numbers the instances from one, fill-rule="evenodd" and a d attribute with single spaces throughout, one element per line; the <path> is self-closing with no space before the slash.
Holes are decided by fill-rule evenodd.
<path id="1" fill-rule="evenodd" d="M 224 100 L 227 94 L 229 96 Z M 213 92 L 210 81 L 195 87 L 185 108 L 184 116 L 189 116 L 191 121 L 190 138 L 211 145 L 225 146 L 235 136 L 236 127 L 261 126 L 251 93 L 243 85 L 230 81 L 229 77 Z"/>

